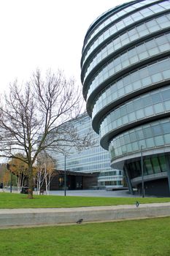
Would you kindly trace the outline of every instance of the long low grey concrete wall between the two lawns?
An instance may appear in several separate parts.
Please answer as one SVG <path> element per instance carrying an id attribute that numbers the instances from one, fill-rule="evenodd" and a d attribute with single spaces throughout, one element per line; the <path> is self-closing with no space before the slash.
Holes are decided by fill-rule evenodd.
<path id="1" fill-rule="evenodd" d="M 71 225 L 85 222 L 107 222 L 170 216 L 170 203 L 147 203 L 125 206 L 94 206 L 80 208 L 0 209 L 0 228 L 39 225 Z"/>

